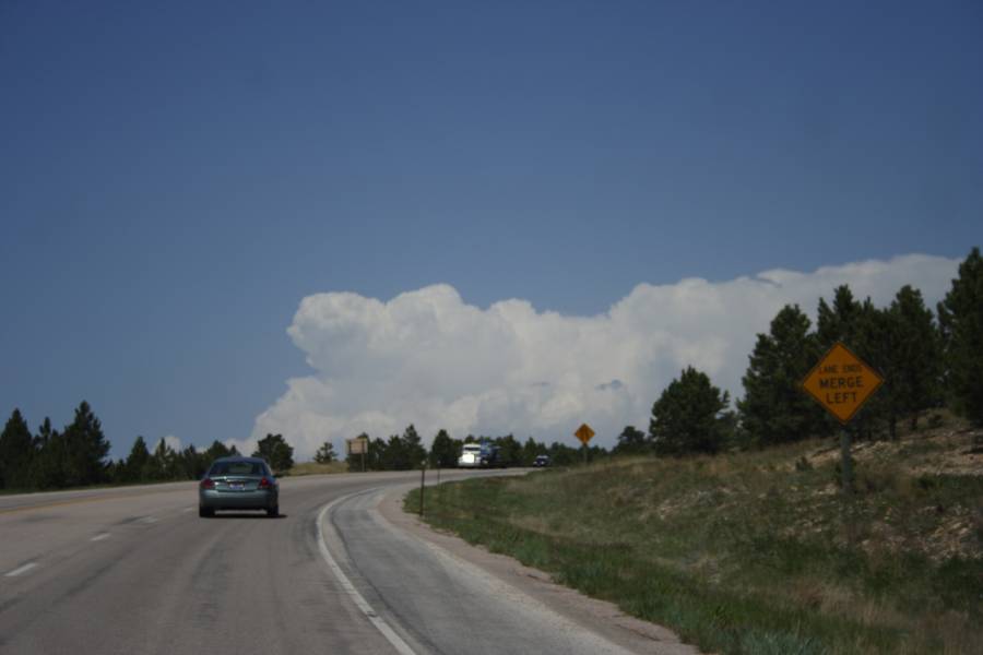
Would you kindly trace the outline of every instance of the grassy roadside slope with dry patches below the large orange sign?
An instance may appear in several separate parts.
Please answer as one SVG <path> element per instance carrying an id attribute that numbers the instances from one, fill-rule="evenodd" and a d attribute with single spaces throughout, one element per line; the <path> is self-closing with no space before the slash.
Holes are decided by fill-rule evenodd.
<path id="1" fill-rule="evenodd" d="M 861 460 L 844 507 L 827 445 L 449 483 L 425 517 L 708 652 L 983 652 L 983 477 Z"/>

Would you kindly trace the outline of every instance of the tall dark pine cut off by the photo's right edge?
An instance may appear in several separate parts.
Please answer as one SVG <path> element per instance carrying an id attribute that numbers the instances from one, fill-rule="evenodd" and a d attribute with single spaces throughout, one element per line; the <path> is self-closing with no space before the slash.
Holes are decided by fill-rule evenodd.
<path id="1" fill-rule="evenodd" d="M 952 408 L 983 425 L 983 257 L 973 248 L 938 303 Z"/>

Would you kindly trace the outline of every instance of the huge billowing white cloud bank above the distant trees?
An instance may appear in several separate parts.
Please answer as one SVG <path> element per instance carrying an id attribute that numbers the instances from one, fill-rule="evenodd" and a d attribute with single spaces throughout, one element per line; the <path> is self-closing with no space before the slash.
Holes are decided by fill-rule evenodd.
<path id="1" fill-rule="evenodd" d="M 351 293 L 303 299 L 287 330 L 312 374 L 256 419 L 252 437 L 282 433 L 295 460 L 325 441 L 339 452 L 360 432 L 386 439 L 414 424 L 425 442 L 512 433 L 570 445 L 581 422 L 609 446 L 626 425 L 648 429 L 652 403 L 687 366 L 710 376 L 731 398 L 757 333 L 796 303 L 815 320 L 819 298 L 850 285 L 854 296 L 888 305 L 903 285 L 929 307 L 943 298 L 958 260 L 923 254 L 827 266 L 772 270 L 726 282 L 699 278 L 639 284 L 592 317 L 537 311 L 525 300 L 482 309 L 449 285 L 389 301 Z"/>

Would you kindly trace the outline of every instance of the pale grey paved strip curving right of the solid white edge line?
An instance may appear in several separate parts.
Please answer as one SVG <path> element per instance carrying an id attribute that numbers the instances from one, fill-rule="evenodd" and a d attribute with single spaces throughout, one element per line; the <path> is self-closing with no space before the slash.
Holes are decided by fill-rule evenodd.
<path id="1" fill-rule="evenodd" d="M 325 538 L 347 576 L 414 653 L 629 655 L 481 568 L 415 538 L 378 511 L 386 489 L 330 508 Z M 333 533 L 333 534 L 332 534 Z"/>

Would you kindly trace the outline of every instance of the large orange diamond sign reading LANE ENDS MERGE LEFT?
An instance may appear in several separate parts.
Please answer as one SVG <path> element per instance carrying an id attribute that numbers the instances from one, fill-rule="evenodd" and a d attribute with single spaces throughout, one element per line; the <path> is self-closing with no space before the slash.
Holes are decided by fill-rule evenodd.
<path id="1" fill-rule="evenodd" d="M 837 342 L 802 381 L 802 388 L 846 425 L 883 382 L 867 362 Z"/>

